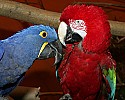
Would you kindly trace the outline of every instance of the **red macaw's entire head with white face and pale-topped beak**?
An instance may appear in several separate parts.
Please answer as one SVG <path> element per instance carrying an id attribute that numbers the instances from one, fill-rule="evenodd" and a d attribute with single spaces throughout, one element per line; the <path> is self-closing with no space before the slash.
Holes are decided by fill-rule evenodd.
<path id="1" fill-rule="evenodd" d="M 110 26 L 105 12 L 97 6 L 69 5 L 60 17 L 58 36 L 61 43 L 82 41 L 89 52 L 103 52 L 110 45 Z"/>

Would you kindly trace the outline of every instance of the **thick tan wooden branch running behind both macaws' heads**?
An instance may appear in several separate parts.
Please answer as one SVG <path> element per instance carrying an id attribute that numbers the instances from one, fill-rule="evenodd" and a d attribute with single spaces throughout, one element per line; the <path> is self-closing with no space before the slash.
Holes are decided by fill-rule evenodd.
<path id="1" fill-rule="evenodd" d="M 0 0 L 0 15 L 58 28 L 61 13 L 42 10 L 19 2 Z M 109 23 L 113 35 L 125 36 L 125 22 L 109 21 Z"/>

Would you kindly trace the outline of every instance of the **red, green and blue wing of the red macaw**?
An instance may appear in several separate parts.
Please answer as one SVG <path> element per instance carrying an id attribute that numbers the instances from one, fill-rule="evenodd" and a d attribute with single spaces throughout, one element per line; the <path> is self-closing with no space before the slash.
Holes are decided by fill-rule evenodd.
<path id="1" fill-rule="evenodd" d="M 106 83 L 106 91 L 108 92 L 108 99 L 114 100 L 115 90 L 116 90 L 116 62 L 112 59 L 111 54 L 102 56 L 101 69 L 103 78 Z"/>

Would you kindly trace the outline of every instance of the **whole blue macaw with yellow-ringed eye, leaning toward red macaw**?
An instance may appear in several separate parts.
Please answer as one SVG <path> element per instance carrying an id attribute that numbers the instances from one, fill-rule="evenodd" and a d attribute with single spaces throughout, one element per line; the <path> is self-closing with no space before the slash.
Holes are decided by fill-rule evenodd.
<path id="1" fill-rule="evenodd" d="M 8 95 L 36 59 L 61 58 L 62 46 L 54 28 L 34 25 L 0 40 L 0 97 Z M 1 100 L 1 99 L 0 99 Z"/>

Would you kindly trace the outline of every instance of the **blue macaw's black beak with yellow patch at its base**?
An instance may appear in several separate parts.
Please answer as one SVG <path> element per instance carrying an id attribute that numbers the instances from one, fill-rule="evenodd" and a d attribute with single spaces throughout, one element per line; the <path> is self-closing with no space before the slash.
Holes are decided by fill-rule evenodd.
<path id="1" fill-rule="evenodd" d="M 55 64 L 62 60 L 62 44 L 59 40 L 51 43 L 45 42 L 39 52 L 38 59 L 47 59 L 55 57 Z"/>

